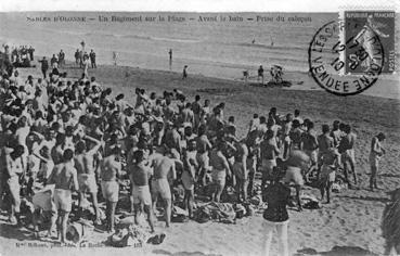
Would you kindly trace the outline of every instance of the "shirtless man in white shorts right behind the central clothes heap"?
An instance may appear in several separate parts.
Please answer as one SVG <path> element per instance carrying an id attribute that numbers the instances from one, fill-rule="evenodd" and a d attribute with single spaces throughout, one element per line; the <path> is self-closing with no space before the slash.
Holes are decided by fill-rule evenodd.
<path id="1" fill-rule="evenodd" d="M 209 157 L 210 166 L 212 166 L 212 183 L 216 187 L 212 200 L 218 203 L 220 202 L 222 191 L 225 188 L 227 176 L 231 177 L 231 168 L 227 157 L 222 153 L 224 146 L 223 142 L 218 142 L 217 146 L 211 150 Z"/>

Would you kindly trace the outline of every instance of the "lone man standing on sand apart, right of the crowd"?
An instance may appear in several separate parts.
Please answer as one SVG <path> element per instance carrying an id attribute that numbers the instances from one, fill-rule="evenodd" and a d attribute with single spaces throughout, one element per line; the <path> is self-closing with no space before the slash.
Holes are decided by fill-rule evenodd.
<path id="1" fill-rule="evenodd" d="M 370 166 L 371 166 L 371 178 L 370 178 L 370 189 L 374 191 L 377 188 L 376 176 L 379 171 L 379 161 L 380 157 L 386 153 L 385 149 L 382 146 L 382 142 L 384 142 L 386 136 L 383 132 L 379 132 L 372 139 L 371 142 L 371 152 L 370 152 Z"/>

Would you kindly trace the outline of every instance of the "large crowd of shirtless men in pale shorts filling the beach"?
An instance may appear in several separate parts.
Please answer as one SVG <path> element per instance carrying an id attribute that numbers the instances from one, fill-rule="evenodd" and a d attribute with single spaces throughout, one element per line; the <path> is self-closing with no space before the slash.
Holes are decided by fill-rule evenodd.
<path id="1" fill-rule="evenodd" d="M 124 94 L 113 97 L 111 88 L 86 75 L 69 79 L 66 73 L 51 73 L 49 78 L 22 79 L 17 72 L 10 77 L 2 74 L 1 207 L 9 210 L 12 223 L 21 225 L 21 197 L 52 187 L 52 207 L 38 208 L 36 215 L 50 213 L 49 234 L 56 227 L 65 242 L 73 194 L 78 194 L 78 210 L 90 195 L 94 225 L 102 225 L 99 202 L 104 201 L 106 227 L 113 232 L 120 183 L 126 180 L 136 220 L 144 214 L 152 230 L 157 201 L 163 203 L 166 226 L 170 225 L 171 190 L 178 184 L 184 187 L 184 204 L 192 217 L 199 188 L 211 188 L 209 200 L 220 202 L 230 185 L 237 202 L 247 201 L 256 193 L 256 172 L 262 174 L 263 189 L 278 165 L 286 169 L 284 182 L 296 188 L 299 210 L 300 190 L 313 174 L 327 201 L 339 166 L 349 184 L 349 169 L 352 182 L 358 182 L 357 138 L 349 125 L 335 120 L 318 132 L 298 110 L 281 116 L 271 107 L 268 115 L 255 114 L 247 135 L 238 138 L 235 118 L 225 119 L 224 108 L 224 103 L 212 107 L 201 95 L 191 101 L 179 90 L 159 95 L 140 88 L 134 104 L 129 104 Z M 385 153 L 384 139 L 379 133 L 372 140 L 372 189 Z M 295 157 L 304 154 L 307 165 Z"/>

